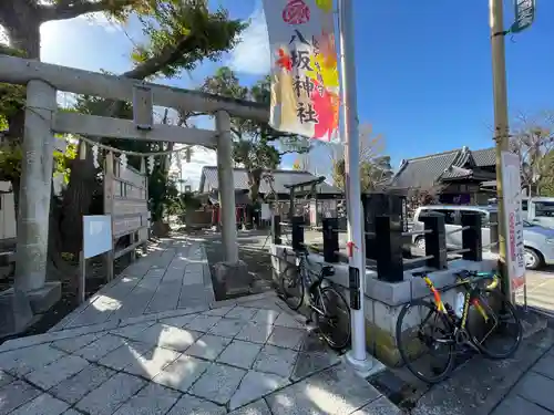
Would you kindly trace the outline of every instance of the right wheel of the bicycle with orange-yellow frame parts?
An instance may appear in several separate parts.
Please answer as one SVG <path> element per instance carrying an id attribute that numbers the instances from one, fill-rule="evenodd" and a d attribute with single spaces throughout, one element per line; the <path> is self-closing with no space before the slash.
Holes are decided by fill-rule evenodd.
<path id="1" fill-rule="evenodd" d="M 475 299 L 488 320 L 483 321 L 483 315 L 473 303 L 466 328 L 472 342 L 490 359 L 510 357 L 520 346 L 523 336 L 515 308 L 499 290 L 482 290 Z"/>

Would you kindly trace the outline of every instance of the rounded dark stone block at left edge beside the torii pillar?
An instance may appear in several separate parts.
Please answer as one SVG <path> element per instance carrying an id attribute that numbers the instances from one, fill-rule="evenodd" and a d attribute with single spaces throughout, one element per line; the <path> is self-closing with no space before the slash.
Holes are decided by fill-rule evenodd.
<path id="1" fill-rule="evenodd" d="M 24 331 L 33 321 L 29 299 L 12 288 L 0 292 L 0 338 Z"/>

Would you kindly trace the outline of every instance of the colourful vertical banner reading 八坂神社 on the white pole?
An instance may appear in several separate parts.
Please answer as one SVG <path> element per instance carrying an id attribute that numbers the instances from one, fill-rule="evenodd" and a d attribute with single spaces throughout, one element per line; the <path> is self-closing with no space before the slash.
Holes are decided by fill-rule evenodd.
<path id="1" fill-rule="evenodd" d="M 264 0 L 271 51 L 269 125 L 308 138 L 339 137 L 332 0 Z"/>

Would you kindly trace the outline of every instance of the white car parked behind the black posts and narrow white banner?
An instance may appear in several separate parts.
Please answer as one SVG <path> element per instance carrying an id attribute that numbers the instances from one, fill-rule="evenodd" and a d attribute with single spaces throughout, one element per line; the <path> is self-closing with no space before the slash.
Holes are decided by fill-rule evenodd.
<path id="1" fill-rule="evenodd" d="M 419 217 L 421 212 L 433 211 L 444 215 L 444 227 L 447 231 L 447 248 L 460 249 L 462 247 L 462 232 L 449 234 L 462 227 L 461 216 L 463 211 L 478 211 L 482 215 L 481 238 L 483 247 L 491 245 L 491 229 L 489 218 L 494 206 L 451 206 L 431 205 L 422 206 L 416 210 L 413 216 L 413 230 L 422 230 L 424 225 Z M 422 235 L 414 235 L 412 242 L 420 249 L 425 249 L 425 239 Z M 554 229 L 535 225 L 523 220 L 523 243 L 525 249 L 525 266 L 527 269 L 537 269 L 545 264 L 554 264 Z"/>

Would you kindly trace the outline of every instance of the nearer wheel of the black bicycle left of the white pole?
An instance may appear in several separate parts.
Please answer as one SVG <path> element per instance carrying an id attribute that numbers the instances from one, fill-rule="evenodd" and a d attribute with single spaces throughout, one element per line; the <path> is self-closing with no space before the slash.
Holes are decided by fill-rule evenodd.
<path id="1" fill-rule="evenodd" d="M 332 287 L 320 291 L 317 308 L 324 314 L 315 312 L 315 323 L 321 336 L 331 349 L 342 350 L 350 343 L 350 308 L 340 292 Z"/>

